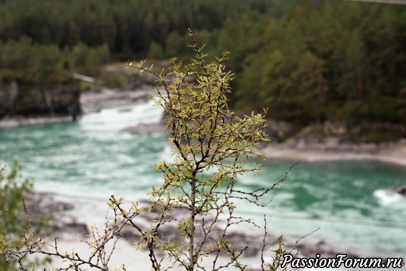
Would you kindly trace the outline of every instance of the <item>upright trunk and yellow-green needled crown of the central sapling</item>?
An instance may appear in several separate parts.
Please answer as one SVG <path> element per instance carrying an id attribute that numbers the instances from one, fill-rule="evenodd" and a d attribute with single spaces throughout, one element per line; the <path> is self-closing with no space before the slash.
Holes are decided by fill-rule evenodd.
<path id="1" fill-rule="evenodd" d="M 239 175 L 260 169 L 255 165 L 246 167 L 239 161 L 251 156 L 264 158 L 256 147 L 259 142 L 269 140 L 263 132 L 267 110 L 265 115 L 234 116 L 228 109 L 226 98 L 232 80 L 232 74 L 225 71 L 224 65 L 228 53 L 207 63 L 202 47 L 197 47 L 191 32 L 190 36 L 193 40 L 190 47 L 197 54 L 190 64 L 173 58 L 171 66 L 159 74 L 144 67 L 143 62 L 137 66 L 128 64 L 140 70 L 141 74 L 155 75 L 160 82 L 161 85 L 155 89 L 157 98 L 154 100 L 169 115 L 165 124 L 172 134 L 168 141 L 173 143 L 175 155 L 173 161 L 156 164 L 164 183 L 152 188 L 151 208 L 158 205 L 162 215 L 154 226 L 145 231 L 148 234 L 144 234 L 144 241 L 138 245 L 150 250 L 155 270 L 160 270 L 160 267 L 153 254 L 154 244 L 161 246 L 170 260 L 186 270 L 194 270 L 197 261 L 203 260 L 207 253 L 218 255 L 220 252 L 230 257 L 230 264 L 245 270 L 247 266 L 238 259 L 241 253 L 232 247 L 225 232 L 236 208 L 233 198 L 252 201 L 251 197 L 255 197 L 255 193 L 236 191 L 234 185 Z M 186 81 L 190 76 L 195 77 L 195 82 Z M 179 240 L 155 234 L 167 221 L 167 212 L 172 208 L 184 208 L 188 212 L 188 216 L 178 222 L 181 236 L 189 240 L 187 245 L 180 246 Z M 215 244 L 205 245 L 213 225 L 222 214 L 229 214 L 223 236 L 215 240 Z M 207 215 L 214 217 L 207 218 L 209 227 L 205 226 L 205 219 L 201 220 Z M 243 221 L 247 222 L 241 219 Z M 195 237 L 197 232 L 204 237 Z"/>

